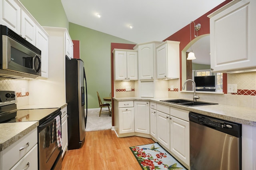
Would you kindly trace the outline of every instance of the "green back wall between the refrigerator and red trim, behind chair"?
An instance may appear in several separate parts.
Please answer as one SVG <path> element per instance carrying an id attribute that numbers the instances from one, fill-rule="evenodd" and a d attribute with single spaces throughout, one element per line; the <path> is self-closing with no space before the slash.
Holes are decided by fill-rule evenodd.
<path id="1" fill-rule="evenodd" d="M 88 108 L 98 108 L 96 91 L 101 98 L 109 97 L 111 92 L 111 43 L 136 43 L 71 22 L 69 34 L 72 40 L 80 41 L 80 59 L 84 61 L 87 80 Z"/>

